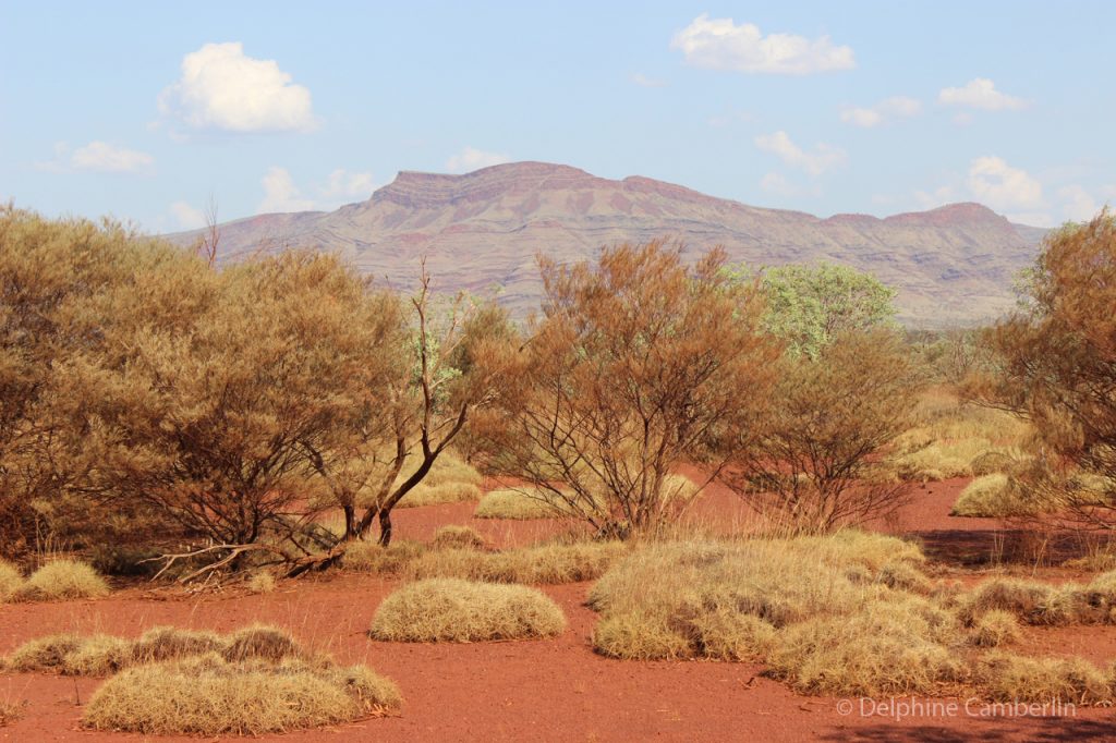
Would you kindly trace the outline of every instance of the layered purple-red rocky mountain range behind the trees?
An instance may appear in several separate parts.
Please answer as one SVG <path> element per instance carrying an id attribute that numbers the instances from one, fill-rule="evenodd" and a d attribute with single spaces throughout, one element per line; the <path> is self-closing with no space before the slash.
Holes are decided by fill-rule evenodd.
<path id="1" fill-rule="evenodd" d="M 538 307 L 537 253 L 576 261 L 604 244 L 665 238 L 684 243 L 689 259 L 721 245 L 731 260 L 757 266 L 829 260 L 868 270 L 899 289 L 904 320 L 937 325 L 1010 309 L 1012 277 L 1033 260 L 1043 231 L 980 204 L 819 219 L 641 176 L 612 181 L 567 165 L 510 163 L 464 175 L 404 172 L 368 201 L 253 216 L 221 234 L 225 260 L 336 250 L 397 288 L 414 284 L 425 255 L 441 289 L 498 287 L 518 313 Z"/>

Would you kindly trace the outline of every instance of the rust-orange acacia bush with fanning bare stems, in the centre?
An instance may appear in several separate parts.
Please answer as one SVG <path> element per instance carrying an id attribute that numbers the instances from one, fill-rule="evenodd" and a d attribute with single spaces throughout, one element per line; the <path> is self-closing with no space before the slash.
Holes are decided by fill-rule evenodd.
<path id="1" fill-rule="evenodd" d="M 715 476 L 728 457 L 711 443 L 750 437 L 773 383 L 756 286 L 725 277 L 723 252 L 686 268 L 662 242 L 539 260 L 543 316 L 490 466 L 603 535 L 653 530 L 682 505 L 672 470 L 700 460 Z"/>

